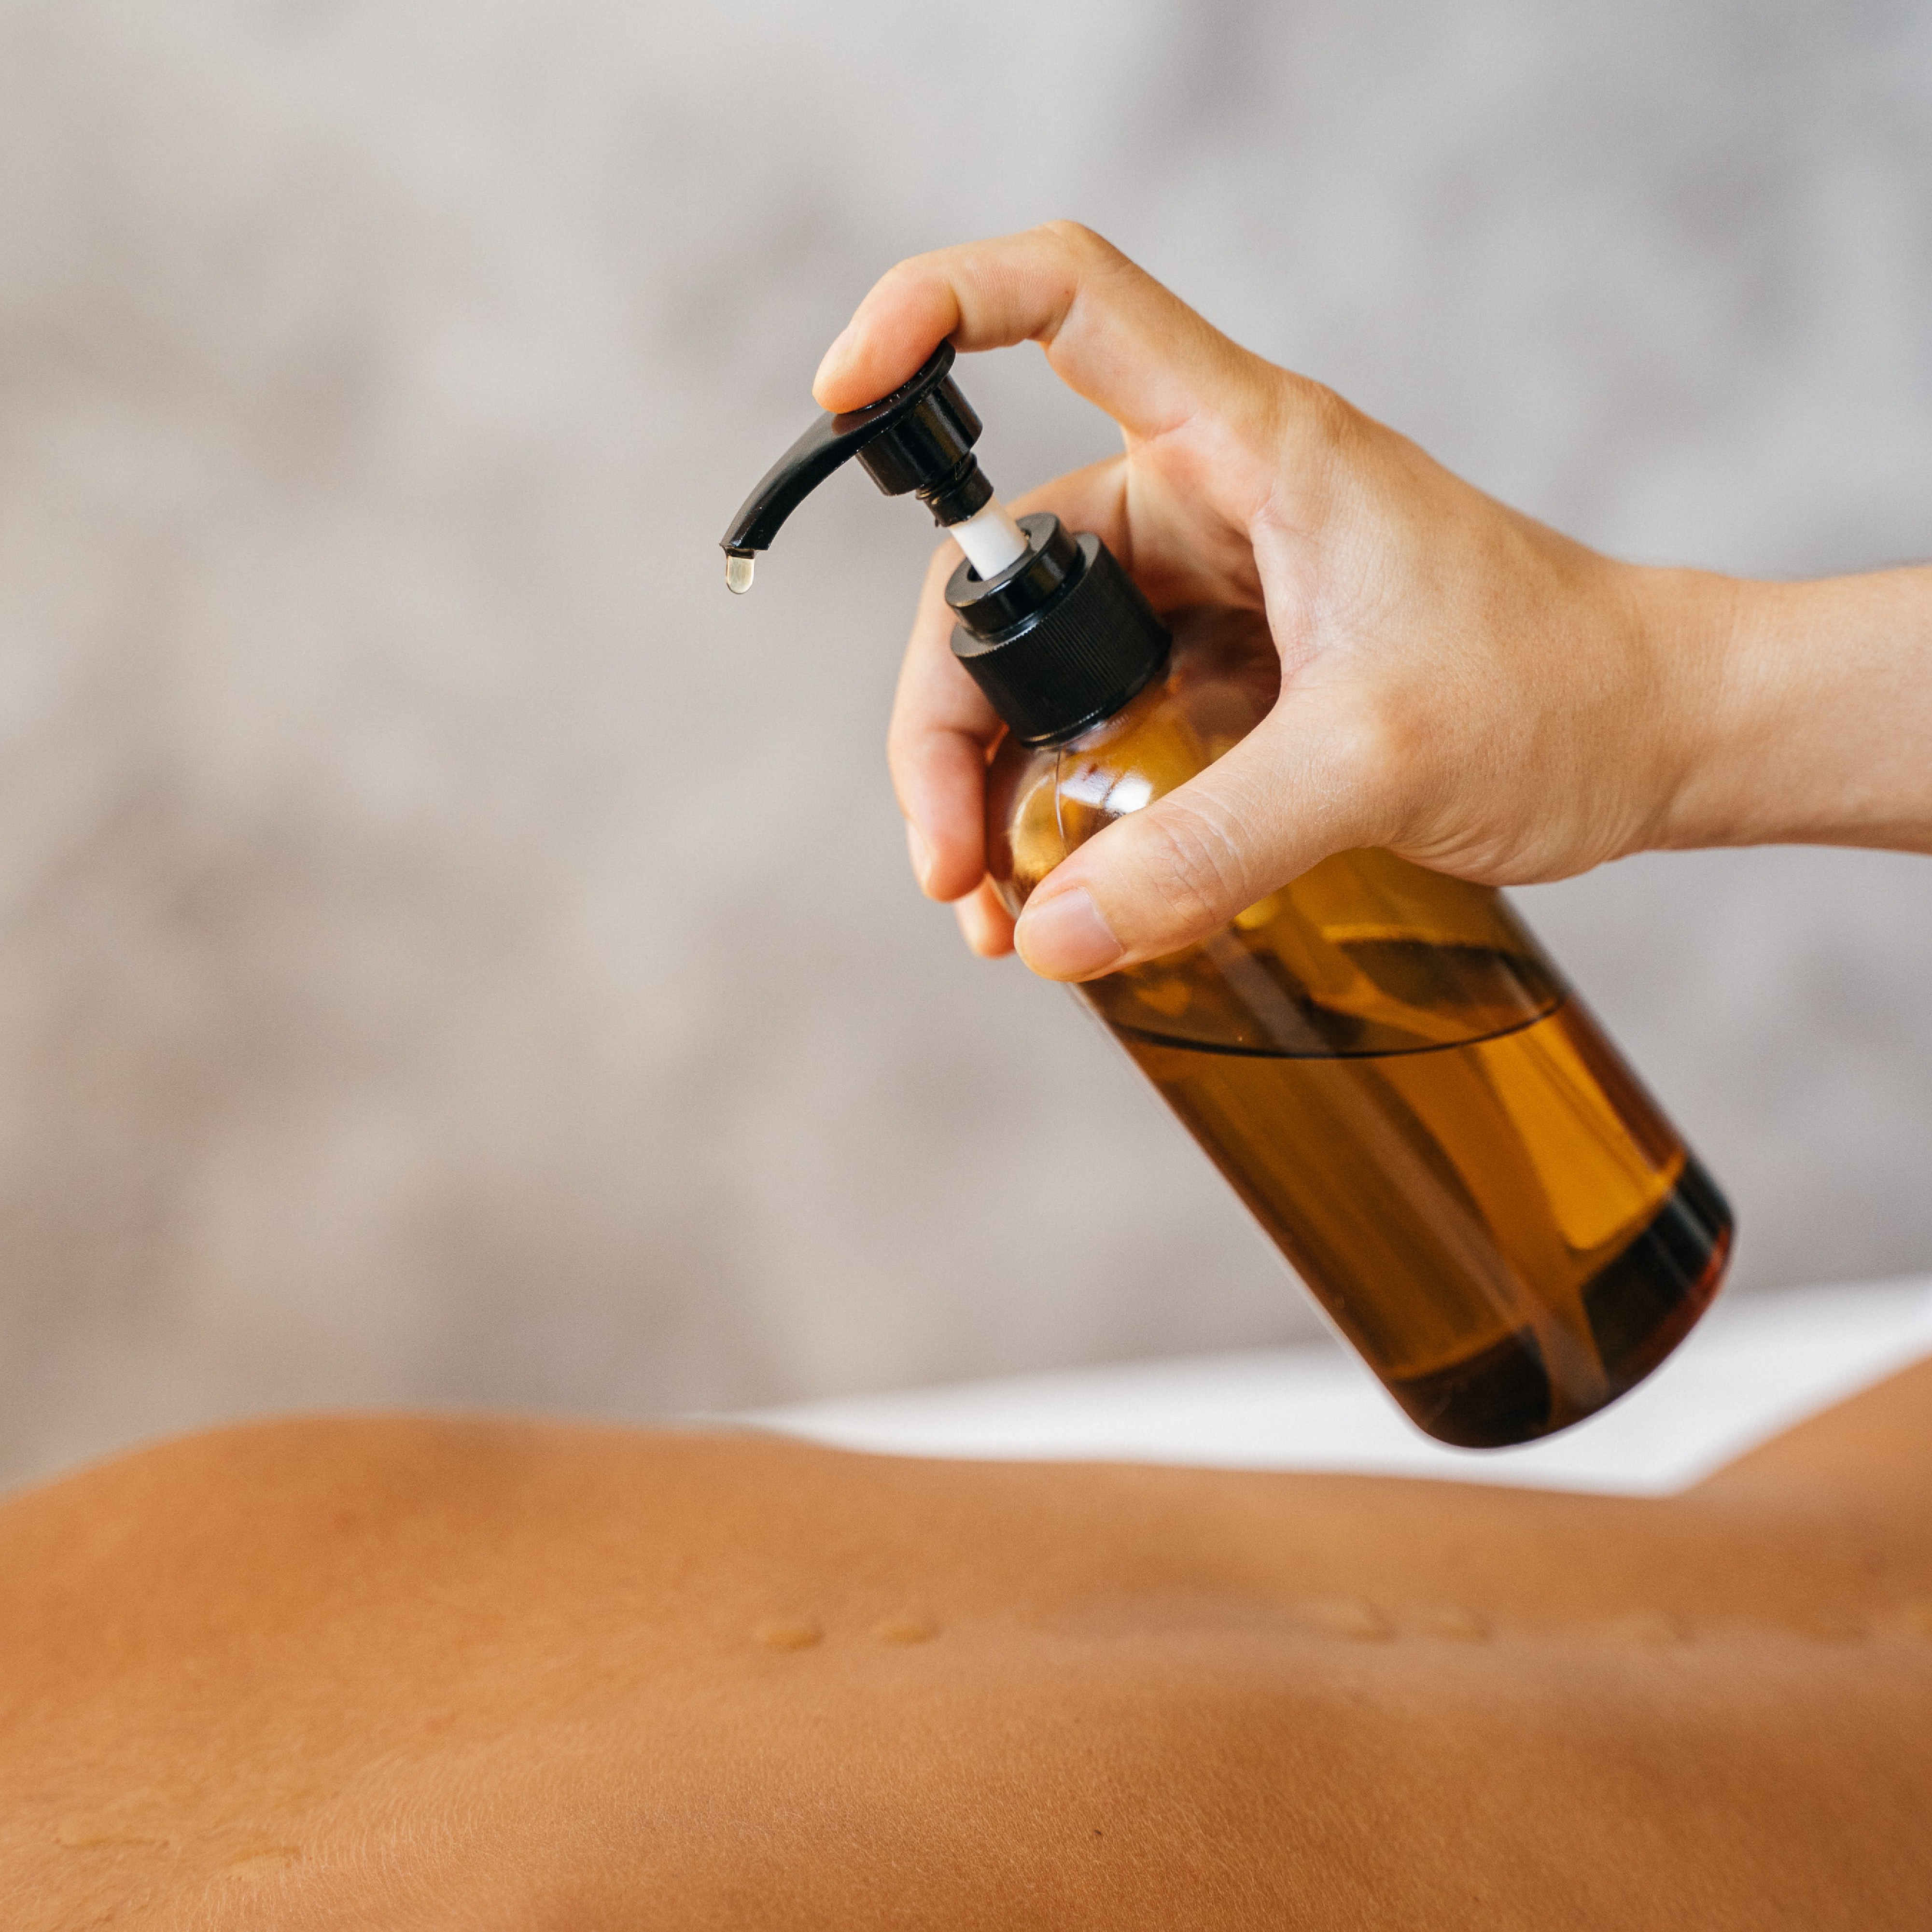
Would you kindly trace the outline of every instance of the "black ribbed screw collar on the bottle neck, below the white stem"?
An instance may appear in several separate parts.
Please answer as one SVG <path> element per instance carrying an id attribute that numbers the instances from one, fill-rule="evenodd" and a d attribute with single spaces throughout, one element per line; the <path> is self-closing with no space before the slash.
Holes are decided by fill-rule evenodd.
<path id="1" fill-rule="evenodd" d="M 1167 663 L 1173 638 L 1113 551 L 1051 512 L 1020 518 L 1026 554 L 997 578 L 960 564 L 952 655 L 1022 744 L 1113 717 Z"/>

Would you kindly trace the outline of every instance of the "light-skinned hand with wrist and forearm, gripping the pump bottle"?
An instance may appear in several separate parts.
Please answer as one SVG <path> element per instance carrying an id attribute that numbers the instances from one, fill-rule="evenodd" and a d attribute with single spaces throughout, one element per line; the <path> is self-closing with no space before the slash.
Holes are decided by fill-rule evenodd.
<path id="1" fill-rule="evenodd" d="M 893 715 L 914 871 L 985 954 L 1053 980 L 1173 952 L 1333 852 L 1490 885 L 1650 848 L 1932 852 L 1932 570 L 1752 583 L 1615 562 L 1238 348 L 1053 222 L 900 263 L 827 352 L 850 410 L 951 338 L 1039 342 L 1124 452 L 1020 498 L 1095 529 L 1159 609 L 1265 618 L 1267 721 L 1068 858 L 1014 933 L 985 883 L 999 721 L 952 663 L 933 558 Z"/>

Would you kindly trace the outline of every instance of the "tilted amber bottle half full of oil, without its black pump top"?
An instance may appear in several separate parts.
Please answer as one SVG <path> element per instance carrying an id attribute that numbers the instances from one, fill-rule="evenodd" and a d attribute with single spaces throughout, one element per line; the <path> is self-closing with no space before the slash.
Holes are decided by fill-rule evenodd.
<path id="1" fill-rule="evenodd" d="M 1206 616 L 1175 632 L 1124 709 L 995 753 L 991 869 L 1014 912 L 1275 701 L 1265 636 Z M 1723 1198 L 1488 887 L 1343 852 L 1080 993 L 1443 1441 L 1517 1443 L 1592 1414 L 1718 1289 Z"/>

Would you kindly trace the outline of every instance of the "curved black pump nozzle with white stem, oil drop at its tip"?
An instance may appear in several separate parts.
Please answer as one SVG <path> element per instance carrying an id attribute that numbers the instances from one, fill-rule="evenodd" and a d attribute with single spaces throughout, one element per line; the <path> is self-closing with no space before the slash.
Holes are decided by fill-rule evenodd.
<path id="1" fill-rule="evenodd" d="M 1026 537 L 972 454 L 981 423 L 951 369 L 952 344 L 941 342 L 925 367 L 891 396 L 864 410 L 821 415 L 732 518 L 723 543 L 724 582 L 748 591 L 755 553 L 771 549 L 779 526 L 852 456 L 887 497 L 916 491 L 933 522 L 958 537 L 981 578 L 1024 556 Z"/>

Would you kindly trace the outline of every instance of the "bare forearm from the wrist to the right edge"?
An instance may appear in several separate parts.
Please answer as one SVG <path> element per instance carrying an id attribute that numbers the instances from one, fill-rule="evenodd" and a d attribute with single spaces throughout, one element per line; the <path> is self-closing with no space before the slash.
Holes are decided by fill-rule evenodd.
<path id="1" fill-rule="evenodd" d="M 1932 568 L 1638 576 L 1654 647 L 1683 670 L 1662 844 L 1932 852 Z"/>

